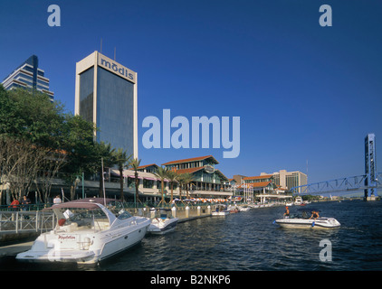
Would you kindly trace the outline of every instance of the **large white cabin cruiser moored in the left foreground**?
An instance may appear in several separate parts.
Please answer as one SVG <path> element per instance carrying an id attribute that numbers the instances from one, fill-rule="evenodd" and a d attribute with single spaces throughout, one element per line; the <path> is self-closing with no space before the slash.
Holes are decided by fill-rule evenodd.
<path id="1" fill-rule="evenodd" d="M 111 199 L 88 198 L 55 204 L 56 227 L 41 234 L 30 250 L 17 260 L 58 261 L 94 264 L 138 244 L 145 237 L 150 220 L 133 217 L 126 210 L 118 214 L 107 208 Z"/>

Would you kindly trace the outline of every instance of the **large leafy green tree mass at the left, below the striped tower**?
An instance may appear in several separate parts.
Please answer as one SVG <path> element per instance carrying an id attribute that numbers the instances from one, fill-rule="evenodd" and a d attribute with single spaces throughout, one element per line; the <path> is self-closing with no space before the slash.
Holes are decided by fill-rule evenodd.
<path id="1" fill-rule="evenodd" d="M 54 175 L 51 172 L 58 172 L 66 162 L 65 154 L 60 152 L 67 137 L 65 116 L 62 105 L 43 93 L 35 91 L 33 95 L 27 89 L 6 91 L 0 86 L 0 137 L 3 144 L 14 142 L 12 154 L 10 150 L 0 152 L 1 163 L 13 163 L 13 156 L 18 155 L 13 169 L 6 173 L 8 181 L 13 178 L 11 186 L 17 184 L 21 196 L 29 191 L 32 182 L 37 190 L 42 185 L 50 191 Z M 28 154 L 31 157 L 27 158 Z"/>

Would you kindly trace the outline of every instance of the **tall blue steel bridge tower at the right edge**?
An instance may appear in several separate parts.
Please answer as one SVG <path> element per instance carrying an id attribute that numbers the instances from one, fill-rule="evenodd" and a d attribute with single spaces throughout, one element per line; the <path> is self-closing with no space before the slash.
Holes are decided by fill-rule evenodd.
<path id="1" fill-rule="evenodd" d="M 377 187 L 376 135 L 374 134 L 368 134 L 365 137 L 365 173 L 367 175 L 365 185 Z M 375 200 L 376 195 L 377 189 L 365 189 L 364 200 Z"/>

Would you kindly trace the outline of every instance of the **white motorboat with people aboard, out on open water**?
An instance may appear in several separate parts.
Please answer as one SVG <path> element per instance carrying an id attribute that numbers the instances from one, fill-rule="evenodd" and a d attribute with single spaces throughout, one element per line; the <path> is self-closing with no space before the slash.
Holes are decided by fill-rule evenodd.
<path id="1" fill-rule="evenodd" d="M 311 218 L 309 212 L 319 211 L 314 209 L 300 209 L 301 214 L 284 216 L 274 222 L 282 228 L 339 228 L 341 224 L 337 219 L 328 217 Z"/>

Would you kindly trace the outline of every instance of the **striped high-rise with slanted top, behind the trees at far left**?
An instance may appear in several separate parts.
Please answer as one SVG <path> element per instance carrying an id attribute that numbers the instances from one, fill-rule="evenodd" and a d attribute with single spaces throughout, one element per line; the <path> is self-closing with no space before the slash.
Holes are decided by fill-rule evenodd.
<path id="1" fill-rule="evenodd" d="M 53 101 L 54 93 L 49 90 L 49 79 L 44 71 L 38 67 L 38 58 L 32 55 L 17 69 L 9 74 L 2 82 L 6 90 L 23 88 L 35 89 L 47 94 Z"/>

